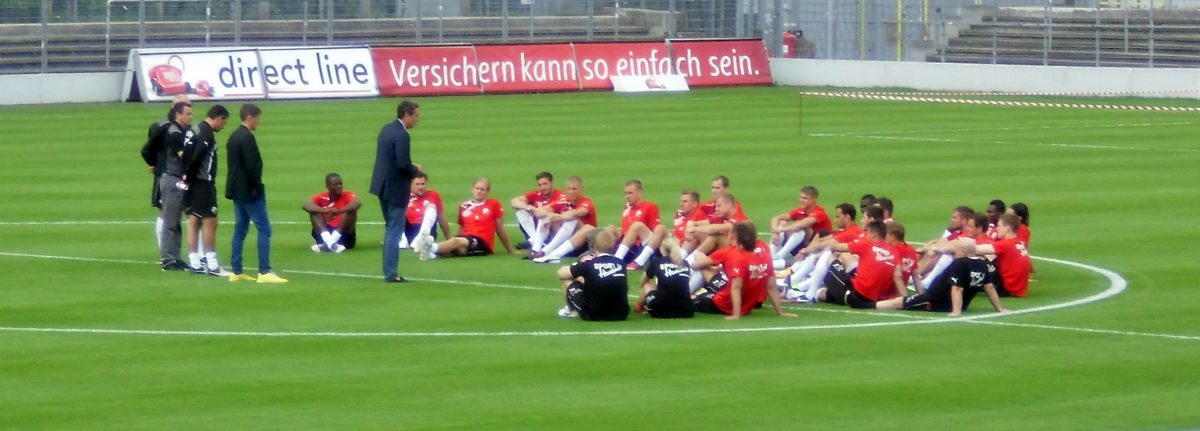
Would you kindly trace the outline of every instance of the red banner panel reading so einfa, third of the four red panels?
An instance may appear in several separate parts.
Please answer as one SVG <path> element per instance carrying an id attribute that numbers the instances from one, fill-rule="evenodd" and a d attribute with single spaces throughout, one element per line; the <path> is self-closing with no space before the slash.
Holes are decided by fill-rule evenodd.
<path id="1" fill-rule="evenodd" d="M 612 89 L 610 77 L 673 74 L 666 42 L 575 43 L 584 90 Z"/>

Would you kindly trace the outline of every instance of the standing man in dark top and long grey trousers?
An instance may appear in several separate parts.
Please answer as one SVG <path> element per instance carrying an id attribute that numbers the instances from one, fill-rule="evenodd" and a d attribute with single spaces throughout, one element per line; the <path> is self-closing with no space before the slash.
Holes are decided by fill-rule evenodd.
<path id="1" fill-rule="evenodd" d="M 194 132 L 192 125 L 192 104 L 178 102 L 172 106 L 173 114 L 170 124 L 163 137 L 162 169 L 158 176 L 158 194 L 162 198 L 163 235 L 158 243 L 160 263 L 162 270 L 184 270 L 187 264 L 179 259 L 179 243 L 182 231 L 179 219 L 184 210 L 184 191 L 187 184 L 184 182 L 184 148 L 192 139 Z"/>

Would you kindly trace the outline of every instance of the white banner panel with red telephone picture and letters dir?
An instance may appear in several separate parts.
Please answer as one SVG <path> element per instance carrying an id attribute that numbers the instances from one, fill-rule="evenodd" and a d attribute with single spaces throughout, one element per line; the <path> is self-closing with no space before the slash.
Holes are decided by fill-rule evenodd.
<path id="1" fill-rule="evenodd" d="M 258 53 L 252 48 L 139 49 L 134 73 L 148 102 L 169 101 L 176 95 L 193 100 L 263 98 Z M 132 53 L 131 53 L 132 54 Z"/>

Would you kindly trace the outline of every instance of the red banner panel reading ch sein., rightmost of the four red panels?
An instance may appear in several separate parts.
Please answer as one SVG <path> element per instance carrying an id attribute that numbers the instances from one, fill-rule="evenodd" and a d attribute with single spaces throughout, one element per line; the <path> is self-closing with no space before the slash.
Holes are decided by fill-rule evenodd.
<path id="1" fill-rule="evenodd" d="M 774 83 L 761 40 L 670 42 L 676 68 L 690 86 Z"/>

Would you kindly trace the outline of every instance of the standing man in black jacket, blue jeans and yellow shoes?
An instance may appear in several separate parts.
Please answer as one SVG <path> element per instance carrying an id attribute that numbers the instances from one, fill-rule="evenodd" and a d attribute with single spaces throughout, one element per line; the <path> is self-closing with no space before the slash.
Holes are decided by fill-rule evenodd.
<path id="1" fill-rule="evenodd" d="M 258 140 L 253 131 L 258 128 L 263 109 L 253 103 L 241 106 L 241 126 L 229 136 L 226 144 L 226 198 L 233 200 L 233 251 L 229 281 L 250 281 L 244 274 L 241 249 L 250 233 L 250 222 L 258 231 L 258 282 L 286 283 L 287 280 L 271 273 L 271 221 L 266 217 L 266 190 L 263 186 L 263 156 L 258 152 Z"/>

